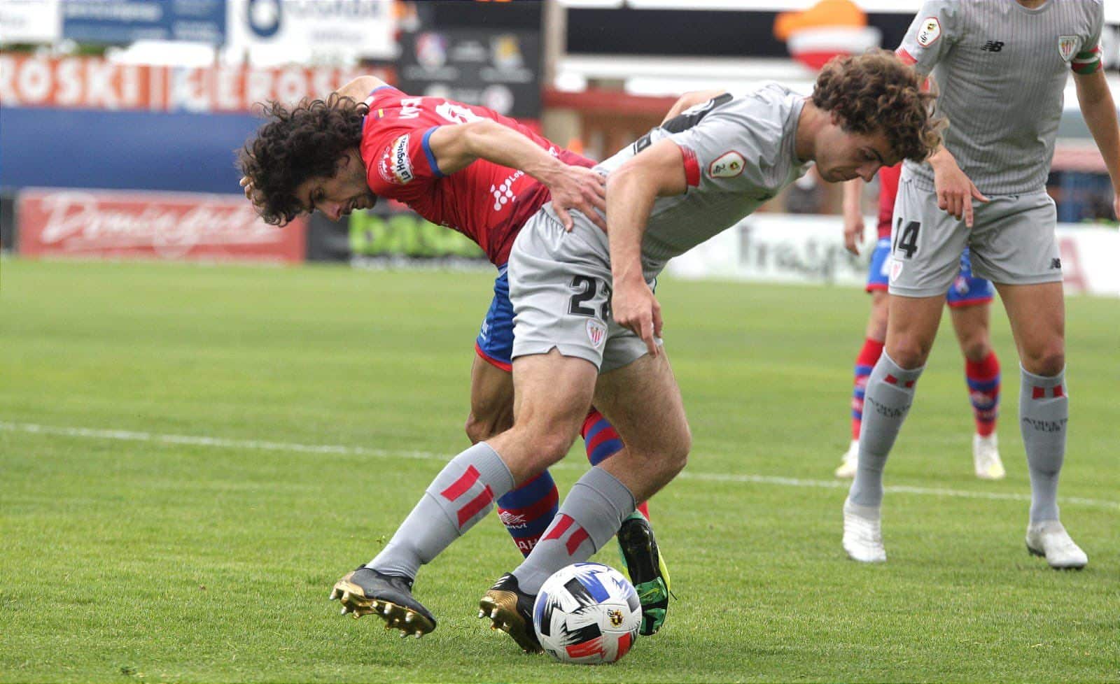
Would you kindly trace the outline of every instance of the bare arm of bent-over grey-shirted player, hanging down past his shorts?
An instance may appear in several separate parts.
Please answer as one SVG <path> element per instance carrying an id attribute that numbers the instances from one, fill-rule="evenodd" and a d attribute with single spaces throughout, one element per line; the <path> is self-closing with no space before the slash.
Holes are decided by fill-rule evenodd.
<path id="1" fill-rule="evenodd" d="M 657 355 L 654 337 L 661 336 L 661 304 L 642 274 L 642 236 L 654 200 L 688 189 L 682 154 L 676 143 L 662 140 L 618 167 L 607 180 L 610 309 L 618 325 L 637 334 L 653 356 Z"/>

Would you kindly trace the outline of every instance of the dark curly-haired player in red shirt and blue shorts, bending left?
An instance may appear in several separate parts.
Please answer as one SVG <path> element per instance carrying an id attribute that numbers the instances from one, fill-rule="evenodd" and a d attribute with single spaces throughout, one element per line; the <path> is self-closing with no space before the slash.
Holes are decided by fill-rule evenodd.
<path id="1" fill-rule="evenodd" d="M 361 97 L 365 101 L 360 104 L 355 99 Z M 683 97 L 674 109 L 696 97 Z M 466 234 L 498 266 L 494 300 L 475 346 L 466 431 L 472 442 L 478 442 L 508 428 L 513 420 L 513 308 L 505 272 L 510 247 L 522 224 L 550 198 L 569 225 L 567 209 L 576 208 L 605 226 L 592 210 L 604 206 L 604 179 L 586 168 L 592 162 L 491 110 L 441 97 L 410 97 L 371 76 L 355 79 L 327 101 L 293 107 L 273 104 L 269 115 L 271 121 L 240 159 L 245 194 L 265 221 L 284 223 L 314 209 L 338 219 L 384 196 Z M 592 465 L 622 447 L 610 424 L 594 410 L 582 433 Z M 552 521 L 558 502 L 547 470 L 498 499 L 502 522 L 523 554 Z M 665 618 L 669 574 L 646 517 L 635 513 L 627 518 L 618 540 L 631 579 L 642 590 L 642 631 L 653 634 Z M 335 598 L 346 594 L 344 612 L 361 616 L 374 608 L 356 585 L 365 574 L 372 572 L 351 573 L 334 592 Z M 427 611 L 412 616 L 418 619 L 421 631 L 435 628 Z"/>

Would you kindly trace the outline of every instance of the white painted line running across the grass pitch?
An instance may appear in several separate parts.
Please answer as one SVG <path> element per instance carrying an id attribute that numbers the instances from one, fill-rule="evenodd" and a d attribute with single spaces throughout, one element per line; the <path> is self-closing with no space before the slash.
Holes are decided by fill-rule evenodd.
<path id="1" fill-rule="evenodd" d="M 198 437 L 192 434 L 160 434 L 152 432 L 134 432 L 130 430 L 102 430 L 95 428 L 63 428 L 55 425 L 38 425 L 35 423 L 0 422 L 0 431 L 31 432 L 60 437 L 83 437 L 90 439 L 109 439 L 131 442 L 156 442 L 161 444 L 187 444 L 192 447 L 215 447 L 218 449 L 259 449 L 262 451 L 291 451 L 298 453 L 338 453 L 346 456 L 370 456 L 374 458 L 410 458 L 418 460 L 450 460 L 452 453 L 433 453 L 430 451 L 396 451 L 390 449 L 370 449 L 367 447 L 345 447 L 342 444 L 299 444 L 292 442 L 269 442 L 261 440 L 226 439 L 221 437 Z M 582 469 L 576 463 L 557 463 L 554 468 Z M 684 471 L 676 476 L 682 480 L 702 480 L 709 482 L 749 482 L 753 485 L 778 485 L 783 487 L 814 487 L 820 489 L 839 489 L 848 487 L 848 482 L 837 480 L 805 480 L 768 475 L 735 475 L 729 472 L 696 472 Z M 965 491 L 962 489 L 941 489 L 936 487 L 912 487 L 894 485 L 886 491 L 897 494 L 917 494 L 922 496 L 948 496 L 956 498 L 1029 502 L 1025 494 L 1002 491 Z M 1120 503 L 1081 497 L 1062 497 L 1063 504 L 1109 508 L 1120 510 Z"/>

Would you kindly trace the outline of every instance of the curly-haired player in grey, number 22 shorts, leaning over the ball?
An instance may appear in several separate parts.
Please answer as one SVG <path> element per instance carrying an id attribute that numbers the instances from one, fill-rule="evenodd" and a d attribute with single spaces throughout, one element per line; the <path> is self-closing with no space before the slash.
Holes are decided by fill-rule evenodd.
<path id="1" fill-rule="evenodd" d="M 933 96 L 889 53 L 834 60 L 805 99 L 773 84 L 720 95 L 652 130 L 596 170 L 608 175 L 604 233 L 584 214 L 566 231 L 551 207 L 510 254 L 515 318 L 513 427 L 456 456 L 371 568 L 388 616 L 420 566 L 475 525 L 493 500 L 563 458 L 592 400 L 623 449 L 588 470 L 525 561 L 479 602 L 525 650 L 539 650 L 534 594 L 590 557 L 684 467 L 691 435 L 661 345 L 652 285 L 665 263 L 734 225 L 815 161 L 832 181 L 936 147 Z M 392 584 L 391 582 L 395 582 Z"/>

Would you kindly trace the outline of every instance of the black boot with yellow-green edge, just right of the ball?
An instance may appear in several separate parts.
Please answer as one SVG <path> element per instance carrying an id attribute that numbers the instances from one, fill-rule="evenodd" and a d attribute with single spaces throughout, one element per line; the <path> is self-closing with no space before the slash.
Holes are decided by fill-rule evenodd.
<path id="1" fill-rule="evenodd" d="M 653 527 L 640 510 L 623 521 L 618 528 L 618 550 L 642 602 L 642 636 L 657 634 L 669 612 L 669 568 L 657 549 Z"/>

